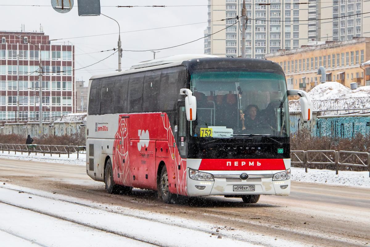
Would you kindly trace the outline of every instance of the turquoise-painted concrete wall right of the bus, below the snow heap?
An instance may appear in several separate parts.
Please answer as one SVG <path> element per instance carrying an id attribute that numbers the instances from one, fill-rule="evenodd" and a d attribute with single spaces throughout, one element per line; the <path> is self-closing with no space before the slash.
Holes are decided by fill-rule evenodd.
<path id="1" fill-rule="evenodd" d="M 316 113 L 313 115 L 316 115 Z M 307 121 L 307 123 L 302 123 L 300 119 L 300 112 L 290 114 L 290 133 L 308 128 L 311 135 L 316 137 L 352 138 L 358 133 L 364 136 L 370 134 L 369 114 L 313 117 L 313 120 Z"/>

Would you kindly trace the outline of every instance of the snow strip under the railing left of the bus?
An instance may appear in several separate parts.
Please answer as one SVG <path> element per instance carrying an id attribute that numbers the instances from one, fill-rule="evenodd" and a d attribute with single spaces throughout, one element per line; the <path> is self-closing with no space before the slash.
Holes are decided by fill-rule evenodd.
<path id="1" fill-rule="evenodd" d="M 4 153 L 1 153 L 0 151 L 0 158 L 6 158 L 11 160 L 27 160 L 27 161 L 39 161 L 39 162 L 47 162 L 47 163 L 58 163 L 58 164 L 74 164 L 74 165 L 80 165 L 80 166 L 86 166 L 86 154 L 79 154 L 77 159 L 77 153 L 70 154 L 70 157 L 68 158 L 68 154 L 45 154 L 45 156 L 42 153 L 31 153 L 28 155 L 28 153 L 17 152 L 16 154 L 14 151 L 4 151 Z"/>

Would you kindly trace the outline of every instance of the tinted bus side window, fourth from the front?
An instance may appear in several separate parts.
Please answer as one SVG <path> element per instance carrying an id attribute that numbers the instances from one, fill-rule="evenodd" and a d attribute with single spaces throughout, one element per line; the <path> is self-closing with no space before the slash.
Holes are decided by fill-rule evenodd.
<path id="1" fill-rule="evenodd" d="M 116 77 L 114 83 L 114 113 L 127 113 L 127 90 L 129 75 Z"/>

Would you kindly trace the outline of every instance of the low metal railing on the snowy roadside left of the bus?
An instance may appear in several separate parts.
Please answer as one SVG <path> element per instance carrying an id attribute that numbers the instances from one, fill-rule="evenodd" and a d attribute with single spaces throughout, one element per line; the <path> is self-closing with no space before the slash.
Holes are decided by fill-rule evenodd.
<path id="1" fill-rule="evenodd" d="M 0 143 L 0 150 L 2 153 L 8 152 L 10 154 L 10 151 L 13 151 L 14 154 L 17 154 L 17 152 L 28 153 L 30 155 L 31 153 L 37 153 L 43 154 L 50 154 L 50 156 L 53 156 L 53 154 L 58 154 L 60 157 L 60 154 L 68 154 L 68 158 L 70 157 L 70 154 L 77 153 L 77 158 L 79 158 L 80 153 L 86 152 L 85 146 L 64 146 L 64 145 L 37 145 L 37 144 L 1 144 Z"/>

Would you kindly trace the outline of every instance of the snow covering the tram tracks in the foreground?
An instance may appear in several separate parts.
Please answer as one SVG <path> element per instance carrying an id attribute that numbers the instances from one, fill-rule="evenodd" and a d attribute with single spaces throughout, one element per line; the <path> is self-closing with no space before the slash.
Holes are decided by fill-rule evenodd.
<path id="1" fill-rule="evenodd" d="M 196 220 L 196 216 L 194 220 L 188 220 L 7 183 L 0 184 L 0 222 L 0 233 L 4 230 L 11 232 L 9 238 L 22 236 L 46 246 L 149 246 L 130 238 L 174 247 L 306 246 L 203 223 Z M 116 244 L 120 239 L 122 243 Z"/>

